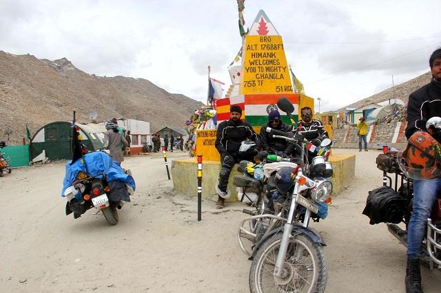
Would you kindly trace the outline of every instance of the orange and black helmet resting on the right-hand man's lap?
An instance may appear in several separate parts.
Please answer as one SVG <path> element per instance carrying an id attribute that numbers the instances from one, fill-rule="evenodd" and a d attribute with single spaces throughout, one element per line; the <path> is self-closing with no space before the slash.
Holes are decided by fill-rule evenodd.
<path id="1" fill-rule="evenodd" d="M 398 166 L 410 178 L 441 177 L 441 144 L 429 133 L 417 131 L 409 138 L 406 149 L 398 152 Z"/>

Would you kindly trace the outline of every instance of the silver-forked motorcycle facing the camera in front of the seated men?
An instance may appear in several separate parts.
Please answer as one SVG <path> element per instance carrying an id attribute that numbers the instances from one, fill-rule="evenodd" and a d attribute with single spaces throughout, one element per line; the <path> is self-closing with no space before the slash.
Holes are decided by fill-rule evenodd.
<path id="1" fill-rule="evenodd" d="M 289 105 L 291 107 L 279 108 L 289 114 L 294 109 L 290 102 Z M 323 176 L 325 173 L 329 177 L 332 175 L 331 164 L 327 164 L 322 156 L 314 157 L 309 164 L 309 153 L 317 148 L 307 149 L 309 142 L 305 143 L 299 133 L 284 133 L 271 128 L 267 131 L 275 138 L 296 145 L 300 158 L 292 159 L 294 162 L 263 164 L 263 184 L 248 180 L 253 186 L 266 184 L 266 191 L 261 194 L 271 195 L 270 200 L 268 197 L 258 199 L 256 211 L 245 219 L 250 230 L 243 227 L 245 221 L 238 230 L 239 242 L 242 237 L 252 243 L 250 250 L 241 245 L 245 252 L 251 253 L 250 291 L 323 292 L 327 282 L 327 263 L 322 246 L 326 244 L 318 232 L 309 227 L 309 222 L 327 215 L 325 201 L 331 195 L 332 184 Z M 330 140 L 327 139 L 322 148 L 325 151 L 329 146 Z M 268 188 L 271 177 L 274 178 L 274 190 Z M 267 199 L 272 202 L 274 211 L 268 208 Z"/>

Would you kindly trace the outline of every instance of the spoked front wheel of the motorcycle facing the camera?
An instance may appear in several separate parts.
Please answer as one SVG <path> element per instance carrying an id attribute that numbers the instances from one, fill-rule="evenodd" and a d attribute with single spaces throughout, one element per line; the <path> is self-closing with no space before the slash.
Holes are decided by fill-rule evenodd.
<path id="1" fill-rule="evenodd" d="M 306 235 L 289 239 L 284 277 L 274 276 L 282 233 L 265 241 L 256 252 L 249 271 L 250 292 L 325 292 L 327 263 L 320 244 Z"/>

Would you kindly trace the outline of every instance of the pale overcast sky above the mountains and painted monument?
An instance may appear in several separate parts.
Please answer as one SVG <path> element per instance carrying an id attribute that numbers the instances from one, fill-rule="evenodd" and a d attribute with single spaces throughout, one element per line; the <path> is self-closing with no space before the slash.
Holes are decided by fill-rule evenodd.
<path id="1" fill-rule="evenodd" d="M 246 0 L 244 16 L 247 27 L 265 10 L 305 94 L 327 111 L 429 71 L 441 47 L 439 8 L 439 0 Z M 0 0 L 0 50 L 65 57 L 89 74 L 145 78 L 195 100 L 207 98 L 207 65 L 228 88 L 240 45 L 236 0 Z"/>

